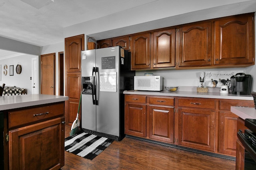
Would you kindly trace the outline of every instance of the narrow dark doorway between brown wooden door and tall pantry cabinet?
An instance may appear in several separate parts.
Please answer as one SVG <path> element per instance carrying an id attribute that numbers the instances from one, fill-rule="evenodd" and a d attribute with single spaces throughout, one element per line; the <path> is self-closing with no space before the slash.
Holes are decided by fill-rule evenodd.
<path id="1" fill-rule="evenodd" d="M 64 96 L 64 52 L 59 52 L 59 95 Z"/>

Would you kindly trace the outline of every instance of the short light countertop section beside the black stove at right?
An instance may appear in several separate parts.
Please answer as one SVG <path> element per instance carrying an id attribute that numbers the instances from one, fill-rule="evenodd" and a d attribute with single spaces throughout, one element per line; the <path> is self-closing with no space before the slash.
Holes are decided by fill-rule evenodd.
<path id="1" fill-rule="evenodd" d="M 231 106 L 230 111 L 242 119 L 256 119 L 256 109 L 254 107 Z"/>

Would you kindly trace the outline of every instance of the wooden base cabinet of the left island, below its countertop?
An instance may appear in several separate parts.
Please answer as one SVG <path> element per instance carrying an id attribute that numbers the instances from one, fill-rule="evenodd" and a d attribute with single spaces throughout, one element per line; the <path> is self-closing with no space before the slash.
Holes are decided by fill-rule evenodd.
<path id="1" fill-rule="evenodd" d="M 4 154 L 5 170 L 59 170 L 64 166 L 64 104 L 4 112 L 9 122 L 6 125 L 9 140 L 6 137 L 4 141 L 8 147 Z"/>

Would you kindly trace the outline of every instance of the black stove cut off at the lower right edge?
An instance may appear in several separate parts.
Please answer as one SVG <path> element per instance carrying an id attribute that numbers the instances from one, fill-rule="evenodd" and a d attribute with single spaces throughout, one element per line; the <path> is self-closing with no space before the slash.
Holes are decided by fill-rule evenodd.
<path id="1" fill-rule="evenodd" d="M 242 133 L 238 131 L 237 137 L 244 146 L 244 170 L 256 169 L 256 119 L 245 119 L 244 125 L 248 128 Z"/>

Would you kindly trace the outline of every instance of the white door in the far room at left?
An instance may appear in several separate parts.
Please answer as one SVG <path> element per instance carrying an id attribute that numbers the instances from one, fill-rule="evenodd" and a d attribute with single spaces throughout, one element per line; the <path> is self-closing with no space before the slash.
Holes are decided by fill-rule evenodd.
<path id="1" fill-rule="evenodd" d="M 38 92 L 38 60 L 37 58 L 32 58 L 32 94 L 39 94 Z"/>

